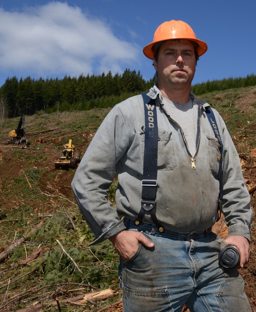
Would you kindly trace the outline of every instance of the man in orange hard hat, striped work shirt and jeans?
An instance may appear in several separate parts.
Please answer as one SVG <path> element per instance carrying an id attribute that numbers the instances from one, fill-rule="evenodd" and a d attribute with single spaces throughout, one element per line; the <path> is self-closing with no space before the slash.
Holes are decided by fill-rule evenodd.
<path id="1" fill-rule="evenodd" d="M 120 255 L 124 312 L 181 311 L 184 304 L 191 312 L 251 311 L 237 270 L 218 261 L 223 247 L 235 245 L 238 267 L 247 263 L 252 211 L 223 120 L 214 110 L 212 128 L 210 105 L 190 92 L 206 50 L 186 23 L 160 25 L 143 49 L 157 84 L 144 102 L 137 95 L 111 110 L 72 182 L 96 238 L 91 244 L 109 239 Z M 115 170 L 117 211 L 107 200 Z M 210 231 L 220 201 L 225 241 Z"/>

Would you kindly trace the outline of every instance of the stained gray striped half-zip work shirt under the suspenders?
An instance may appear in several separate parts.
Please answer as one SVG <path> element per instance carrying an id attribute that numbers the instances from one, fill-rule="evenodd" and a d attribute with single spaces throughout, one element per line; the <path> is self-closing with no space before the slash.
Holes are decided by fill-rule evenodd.
<path id="1" fill-rule="evenodd" d="M 195 169 L 177 124 L 159 107 L 162 94 L 154 85 L 148 92 L 157 103 L 158 172 L 156 215 L 161 225 L 176 232 L 200 232 L 216 221 L 219 195 L 219 143 L 205 115 L 204 101 L 191 92 L 195 132 L 198 105 L 202 105 L 200 144 Z M 213 110 L 224 144 L 223 213 L 229 235 L 247 239 L 252 222 L 250 196 L 240 160 L 223 119 Z M 171 116 L 170 116 L 171 117 Z M 109 112 L 100 125 L 71 183 L 76 201 L 96 244 L 125 229 L 120 216 L 136 219 L 141 208 L 144 157 L 144 108 L 141 95 L 133 96 Z M 118 176 L 117 208 L 108 201 L 108 190 Z M 145 222 L 153 223 L 146 213 Z"/>

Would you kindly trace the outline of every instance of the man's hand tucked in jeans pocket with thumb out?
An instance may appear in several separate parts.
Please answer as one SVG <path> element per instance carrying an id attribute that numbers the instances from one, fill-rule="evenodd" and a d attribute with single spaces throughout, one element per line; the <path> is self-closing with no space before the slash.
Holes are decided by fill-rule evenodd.
<path id="1" fill-rule="evenodd" d="M 147 237 L 135 231 L 121 231 L 109 238 L 118 254 L 126 261 L 137 251 L 139 243 L 145 247 L 155 246 Z"/>

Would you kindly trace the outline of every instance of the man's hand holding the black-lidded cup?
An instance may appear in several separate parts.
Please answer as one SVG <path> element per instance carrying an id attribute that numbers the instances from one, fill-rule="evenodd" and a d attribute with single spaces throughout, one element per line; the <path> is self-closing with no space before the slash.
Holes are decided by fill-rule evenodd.
<path id="1" fill-rule="evenodd" d="M 251 248 L 247 238 L 241 235 L 230 235 L 225 239 L 228 245 L 234 245 L 239 249 L 240 252 L 240 263 L 237 266 L 238 269 L 244 267 L 249 261 L 251 254 Z"/>

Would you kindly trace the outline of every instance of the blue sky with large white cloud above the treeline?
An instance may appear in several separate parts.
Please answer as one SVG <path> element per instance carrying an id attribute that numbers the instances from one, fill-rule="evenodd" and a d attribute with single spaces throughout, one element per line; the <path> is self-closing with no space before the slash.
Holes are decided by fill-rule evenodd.
<path id="1" fill-rule="evenodd" d="M 142 49 L 165 21 L 183 20 L 205 41 L 193 84 L 256 74 L 255 0 L 4 0 L 0 2 L 0 86 L 6 78 L 122 74 L 149 80 Z"/>

